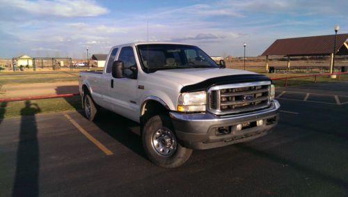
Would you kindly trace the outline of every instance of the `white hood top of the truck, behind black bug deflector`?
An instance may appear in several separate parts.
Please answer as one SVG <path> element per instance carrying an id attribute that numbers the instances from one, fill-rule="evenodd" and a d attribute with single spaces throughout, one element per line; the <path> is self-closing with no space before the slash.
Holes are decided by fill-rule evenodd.
<path id="1" fill-rule="evenodd" d="M 223 77 L 237 74 L 257 74 L 246 70 L 236 69 L 221 69 L 221 68 L 186 68 L 186 69 L 172 69 L 172 70 L 157 70 L 151 73 L 152 77 L 161 78 L 164 81 L 175 81 L 182 86 L 197 84 L 206 79 L 214 77 Z"/>

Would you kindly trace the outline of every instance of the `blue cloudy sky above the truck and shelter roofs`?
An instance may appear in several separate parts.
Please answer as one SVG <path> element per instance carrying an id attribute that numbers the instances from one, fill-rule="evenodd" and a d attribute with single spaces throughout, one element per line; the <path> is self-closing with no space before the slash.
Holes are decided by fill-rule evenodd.
<path id="1" fill-rule="evenodd" d="M 348 1 L 0 0 L 0 57 L 86 58 L 129 42 L 182 42 L 259 56 L 274 40 L 348 33 Z"/>

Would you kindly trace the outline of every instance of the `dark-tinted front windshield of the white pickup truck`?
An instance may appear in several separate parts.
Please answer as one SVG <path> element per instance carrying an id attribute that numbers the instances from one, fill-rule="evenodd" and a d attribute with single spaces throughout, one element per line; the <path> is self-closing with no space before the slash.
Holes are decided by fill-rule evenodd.
<path id="1" fill-rule="evenodd" d="M 152 44 L 138 45 L 145 72 L 176 68 L 219 68 L 212 58 L 195 46 Z"/>

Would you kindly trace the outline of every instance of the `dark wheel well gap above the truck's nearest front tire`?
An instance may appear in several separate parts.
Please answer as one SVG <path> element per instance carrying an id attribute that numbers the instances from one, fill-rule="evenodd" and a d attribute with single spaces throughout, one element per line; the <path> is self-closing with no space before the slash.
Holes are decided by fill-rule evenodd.
<path id="1" fill-rule="evenodd" d="M 146 101 L 141 107 L 140 123 L 144 125 L 152 116 L 168 114 L 168 109 L 163 104 L 155 100 Z"/>

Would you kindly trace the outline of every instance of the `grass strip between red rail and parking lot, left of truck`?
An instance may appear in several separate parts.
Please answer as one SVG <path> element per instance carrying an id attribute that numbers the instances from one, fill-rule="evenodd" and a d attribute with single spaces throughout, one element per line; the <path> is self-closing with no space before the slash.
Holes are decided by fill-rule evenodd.
<path id="1" fill-rule="evenodd" d="M 80 96 L 45 100 L 0 102 L 0 119 L 16 116 L 33 116 L 38 113 L 74 111 L 79 109 L 81 109 Z"/>

